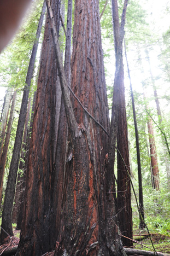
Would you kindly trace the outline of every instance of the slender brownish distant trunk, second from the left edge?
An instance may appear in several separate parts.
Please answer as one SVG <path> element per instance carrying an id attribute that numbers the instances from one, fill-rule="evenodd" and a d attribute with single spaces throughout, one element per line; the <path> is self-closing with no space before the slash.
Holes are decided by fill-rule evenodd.
<path id="1" fill-rule="evenodd" d="M 16 91 L 14 91 L 14 94 L 13 94 L 13 102 L 11 104 L 11 109 L 10 109 L 8 128 L 7 128 L 7 133 L 6 133 L 5 142 L 3 146 L 3 152 L 0 160 L 0 205 L 2 200 L 3 178 L 4 178 L 5 164 L 6 164 L 7 153 L 8 153 L 9 140 L 10 140 L 10 132 L 11 132 L 11 127 L 14 119 L 15 101 L 16 101 Z"/>

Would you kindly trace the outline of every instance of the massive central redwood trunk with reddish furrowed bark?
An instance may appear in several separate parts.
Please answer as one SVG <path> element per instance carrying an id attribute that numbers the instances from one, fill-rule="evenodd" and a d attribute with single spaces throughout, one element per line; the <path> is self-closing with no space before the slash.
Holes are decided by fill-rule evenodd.
<path id="1" fill-rule="evenodd" d="M 97 1 L 75 1 L 72 89 L 83 106 L 109 131 L 101 34 Z M 55 255 L 97 255 L 102 249 L 105 205 L 104 159 L 108 137 L 72 95 L 80 137 L 68 142 L 65 173 L 58 197 L 58 240 Z M 68 137 L 69 139 L 69 137 Z M 72 149 L 73 148 L 73 149 Z M 103 251 L 103 253 L 106 253 Z"/>

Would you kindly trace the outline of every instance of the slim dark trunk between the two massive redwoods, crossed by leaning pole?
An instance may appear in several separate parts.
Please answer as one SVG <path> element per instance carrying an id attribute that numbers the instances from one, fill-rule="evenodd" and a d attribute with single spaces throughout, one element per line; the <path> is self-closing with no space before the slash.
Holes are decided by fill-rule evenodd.
<path id="1" fill-rule="evenodd" d="M 68 11 L 67 11 L 67 32 L 66 32 L 66 48 L 65 48 L 65 73 L 67 83 L 71 84 L 70 77 L 71 77 L 71 40 L 72 40 L 72 0 L 68 0 Z M 60 84 L 59 84 L 60 85 Z M 61 90 L 61 88 L 60 88 Z M 58 198 L 62 201 L 63 197 L 63 184 L 65 184 L 65 175 L 66 175 L 66 161 L 67 161 L 67 154 L 68 148 L 68 124 L 67 124 L 67 117 L 65 112 L 65 104 L 63 101 L 63 97 L 61 98 L 61 108 L 60 113 L 58 113 L 58 134 L 57 134 L 57 147 L 56 147 L 56 155 L 55 155 L 55 168 L 57 173 L 62 173 L 60 178 L 58 179 L 58 175 L 55 177 L 54 181 L 54 196 L 52 201 L 52 206 L 54 211 L 55 219 L 53 225 L 52 232 L 54 234 L 58 234 L 60 230 L 60 216 L 62 208 L 58 207 Z M 62 145 L 62 147 L 61 147 Z M 60 184 L 60 189 L 58 189 L 58 184 Z"/>

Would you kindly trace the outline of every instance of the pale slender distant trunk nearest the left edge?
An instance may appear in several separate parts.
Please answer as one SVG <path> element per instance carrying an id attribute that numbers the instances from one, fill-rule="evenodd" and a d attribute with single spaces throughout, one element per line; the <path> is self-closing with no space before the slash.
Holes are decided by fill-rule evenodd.
<path id="1" fill-rule="evenodd" d="M 1 137 L 0 137 L 0 157 L 2 155 L 3 142 L 5 138 L 5 130 L 7 127 L 8 113 L 9 113 L 12 94 L 13 94 L 13 89 L 9 88 L 4 98 L 4 108 L 3 108 L 3 114 L 2 114 Z"/>

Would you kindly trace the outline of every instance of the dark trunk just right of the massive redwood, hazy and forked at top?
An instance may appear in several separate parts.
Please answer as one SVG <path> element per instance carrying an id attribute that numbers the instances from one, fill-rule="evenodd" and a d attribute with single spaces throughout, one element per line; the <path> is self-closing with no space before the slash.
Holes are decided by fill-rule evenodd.
<path id="1" fill-rule="evenodd" d="M 127 0 L 124 2 L 124 9 L 121 16 L 121 24 L 119 24 L 118 3 L 112 0 L 112 14 L 113 14 L 113 30 L 114 30 L 114 44 L 116 56 L 116 71 L 113 91 L 113 107 L 112 120 L 110 131 L 110 144 L 114 150 L 115 141 L 117 137 L 118 148 L 118 191 L 117 191 L 117 213 L 118 223 L 122 235 L 132 238 L 132 208 L 131 208 L 131 185 L 130 185 L 130 162 L 128 155 L 128 138 L 127 138 L 127 120 L 126 120 L 126 106 L 125 106 L 125 87 L 124 87 L 124 66 L 122 57 L 122 43 L 124 39 L 124 26 L 126 18 Z M 112 141 L 113 140 L 113 141 Z M 114 146 L 113 146 L 114 145 Z M 114 155 L 110 154 L 109 149 L 109 165 Z M 124 159 L 124 162 L 122 161 Z M 126 167 L 125 167 L 125 165 Z M 114 168 L 114 162 L 112 164 Z M 110 168 L 110 167 L 109 167 Z M 127 168 L 127 169 L 126 169 Z M 128 171 L 127 171 L 128 170 Z M 109 174 L 113 179 L 113 171 Z M 108 176 L 109 189 L 111 193 L 115 193 L 114 182 Z M 110 179 L 110 181 L 109 181 Z M 112 182 L 112 183 L 111 183 Z M 110 193 L 110 192 L 109 192 Z M 111 195 L 110 195 L 111 196 Z M 112 210 L 111 210 L 112 212 Z M 126 246 L 132 246 L 131 240 L 122 237 L 122 242 Z"/>

